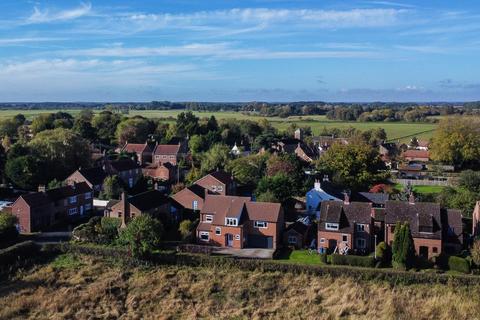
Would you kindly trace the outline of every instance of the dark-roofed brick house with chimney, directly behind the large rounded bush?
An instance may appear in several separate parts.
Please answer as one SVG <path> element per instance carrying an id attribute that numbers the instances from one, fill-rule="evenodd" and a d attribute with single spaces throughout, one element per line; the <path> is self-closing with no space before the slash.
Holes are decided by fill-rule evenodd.
<path id="1" fill-rule="evenodd" d="M 157 190 L 146 191 L 131 197 L 122 193 L 121 200 L 111 200 L 105 210 L 105 216 L 119 218 L 122 225 L 140 215 L 149 214 L 155 218 L 169 217 L 170 199 Z"/>

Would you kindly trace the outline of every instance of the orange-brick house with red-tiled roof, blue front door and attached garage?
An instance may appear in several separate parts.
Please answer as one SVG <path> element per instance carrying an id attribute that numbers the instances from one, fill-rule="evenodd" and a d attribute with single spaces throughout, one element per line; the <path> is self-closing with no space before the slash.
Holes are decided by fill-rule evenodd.
<path id="1" fill-rule="evenodd" d="M 276 249 L 283 227 L 279 203 L 208 194 L 200 212 L 197 239 L 200 244 L 220 247 Z"/>

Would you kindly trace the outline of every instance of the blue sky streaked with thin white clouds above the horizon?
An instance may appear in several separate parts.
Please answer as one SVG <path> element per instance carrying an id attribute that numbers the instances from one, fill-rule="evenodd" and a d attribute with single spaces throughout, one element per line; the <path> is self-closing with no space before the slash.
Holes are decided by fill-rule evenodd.
<path id="1" fill-rule="evenodd" d="M 480 100 L 480 1 L 0 2 L 0 101 Z"/>

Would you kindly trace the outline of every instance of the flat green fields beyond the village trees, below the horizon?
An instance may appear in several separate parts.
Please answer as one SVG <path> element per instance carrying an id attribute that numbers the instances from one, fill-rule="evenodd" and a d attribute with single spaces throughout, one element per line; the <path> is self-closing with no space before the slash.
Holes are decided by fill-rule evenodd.
<path id="1" fill-rule="evenodd" d="M 18 113 L 22 113 L 28 119 L 32 119 L 41 113 L 50 113 L 64 111 L 73 115 L 79 112 L 78 109 L 63 109 L 63 110 L 0 110 L 0 119 L 12 117 Z M 141 115 L 146 118 L 170 118 L 176 117 L 182 110 L 141 110 L 131 111 L 129 116 Z M 214 115 L 217 119 L 250 119 L 260 120 L 264 117 L 250 116 L 241 114 L 240 112 L 194 112 L 198 117 L 210 117 Z M 288 118 L 270 117 L 267 118 L 273 123 L 273 126 L 280 130 L 285 130 L 290 124 L 296 123 L 298 126 L 312 128 L 313 133 L 318 135 L 324 128 L 339 128 L 344 129 L 354 127 L 359 130 L 368 130 L 373 128 L 384 128 L 387 132 L 389 140 L 408 141 L 413 135 L 418 138 L 429 139 L 432 137 L 433 130 L 436 124 L 432 123 L 404 123 L 404 122 L 347 122 L 347 121 L 332 121 L 325 116 L 293 116 Z"/>

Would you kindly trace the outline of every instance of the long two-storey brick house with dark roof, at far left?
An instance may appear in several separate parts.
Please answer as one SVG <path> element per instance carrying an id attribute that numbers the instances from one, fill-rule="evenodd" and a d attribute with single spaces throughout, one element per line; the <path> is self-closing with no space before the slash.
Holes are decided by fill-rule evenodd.
<path id="1" fill-rule="evenodd" d="M 21 195 L 12 205 L 20 232 L 37 232 L 61 221 L 79 218 L 93 208 L 93 190 L 86 182 Z"/>

